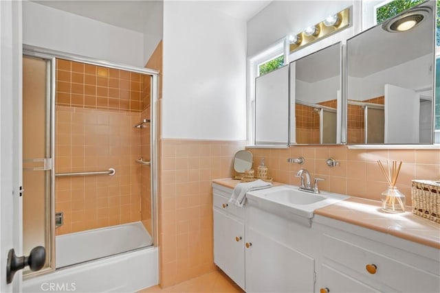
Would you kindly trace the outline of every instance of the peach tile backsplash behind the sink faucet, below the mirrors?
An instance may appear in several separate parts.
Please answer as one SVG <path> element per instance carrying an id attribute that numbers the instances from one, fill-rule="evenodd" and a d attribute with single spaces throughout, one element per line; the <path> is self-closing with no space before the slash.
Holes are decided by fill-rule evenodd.
<path id="1" fill-rule="evenodd" d="M 388 186 L 377 160 L 402 161 L 397 188 L 406 195 L 406 204 L 411 204 L 411 180 L 439 179 L 439 150 L 352 150 L 347 146 L 305 146 L 287 149 L 250 149 L 254 154 L 254 165 L 265 158 L 269 176 L 275 181 L 298 185 L 295 177 L 299 169 L 308 169 L 312 177 L 324 178 L 320 189 L 349 194 L 362 198 L 380 200 L 380 194 Z M 304 165 L 287 163 L 287 158 L 303 156 Z M 332 157 L 340 167 L 328 167 Z"/>

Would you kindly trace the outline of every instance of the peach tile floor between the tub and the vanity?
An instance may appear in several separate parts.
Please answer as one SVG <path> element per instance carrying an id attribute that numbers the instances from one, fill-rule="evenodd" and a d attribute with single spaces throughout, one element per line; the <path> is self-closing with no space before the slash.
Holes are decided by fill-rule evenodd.
<path id="1" fill-rule="evenodd" d="M 244 291 L 241 290 L 241 288 L 239 288 L 239 286 L 229 279 L 223 272 L 216 270 L 214 272 L 203 274 L 200 277 L 196 277 L 164 289 L 160 288 L 159 285 L 155 285 L 153 287 L 140 290 L 138 293 L 157 292 L 243 293 Z"/>

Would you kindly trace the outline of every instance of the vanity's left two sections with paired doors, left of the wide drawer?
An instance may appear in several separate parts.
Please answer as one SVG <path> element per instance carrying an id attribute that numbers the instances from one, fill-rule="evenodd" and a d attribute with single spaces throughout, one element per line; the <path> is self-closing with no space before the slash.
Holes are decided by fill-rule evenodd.
<path id="1" fill-rule="evenodd" d="M 305 240 L 295 240 L 301 231 L 250 202 L 230 204 L 232 189 L 212 186 L 214 263 L 246 292 L 313 292 L 314 259 L 292 245 Z"/>

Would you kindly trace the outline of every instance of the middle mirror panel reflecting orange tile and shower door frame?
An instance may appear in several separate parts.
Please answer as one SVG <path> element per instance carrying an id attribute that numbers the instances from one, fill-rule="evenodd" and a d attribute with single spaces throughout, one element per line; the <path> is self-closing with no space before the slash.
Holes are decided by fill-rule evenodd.
<path id="1" fill-rule="evenodd" d="M 341 142 L 341 43 L 290 63 L 289 144 Z"/>

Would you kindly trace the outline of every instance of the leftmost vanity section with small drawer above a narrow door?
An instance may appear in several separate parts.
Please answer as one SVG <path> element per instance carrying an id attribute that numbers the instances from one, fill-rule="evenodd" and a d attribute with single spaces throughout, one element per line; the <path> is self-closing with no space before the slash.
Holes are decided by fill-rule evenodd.
<path id="1" fill-rule="evenodd" d="M 232 189 L 213 185 L 214 263 L 245 289 L 244 208 L 228 202 Z"/>

